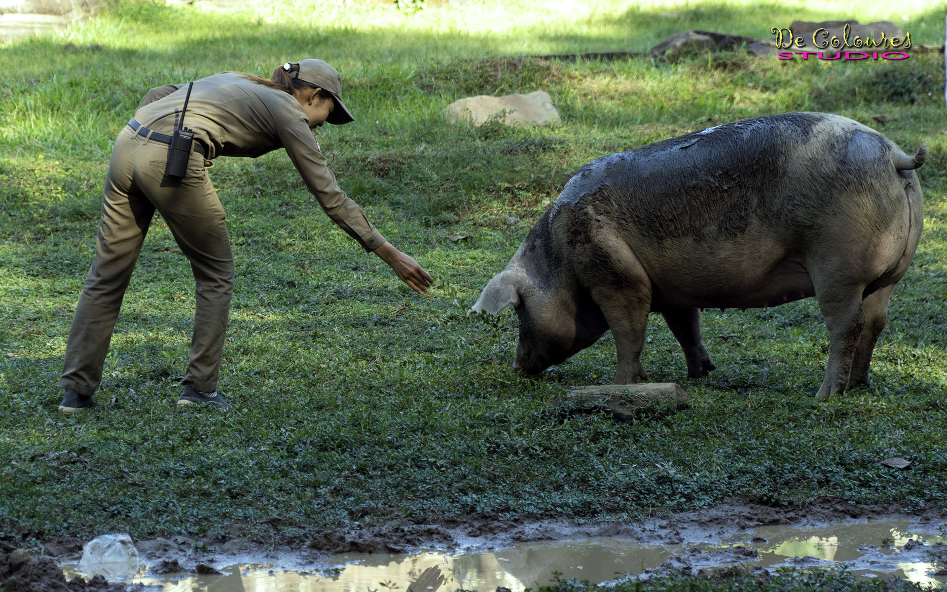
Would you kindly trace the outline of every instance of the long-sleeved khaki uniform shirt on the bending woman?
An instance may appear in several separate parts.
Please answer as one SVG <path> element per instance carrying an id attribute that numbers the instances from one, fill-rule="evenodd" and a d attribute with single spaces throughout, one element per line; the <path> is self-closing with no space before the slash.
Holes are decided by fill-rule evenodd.
<path id="1" fill-rule="evenodd" d="M 188 94 L 188 84 L 152 88 L 134 118 L 154 132 L 171 135 Z M 185 127 L 204 144 L 205 158 L 256 158 L 278 148 L 286 150 L 306 187 L 332 222 L 360 242 L 366 251 L 384 244 L 326 166 L 326 159 L 309 128 L 309 118 L 291 95 L 250 81 L 236 72 L 223 72 L 194 81 L 185 114 Z"/>

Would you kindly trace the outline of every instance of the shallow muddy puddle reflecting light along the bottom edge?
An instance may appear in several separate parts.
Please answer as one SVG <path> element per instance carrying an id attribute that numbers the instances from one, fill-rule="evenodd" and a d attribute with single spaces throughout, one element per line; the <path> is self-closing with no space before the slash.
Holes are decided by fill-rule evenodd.
<path id="1" fill-rule="evenodd" d="M 901 577 L 931 584 L 947 582 L 947 525 L 936 521 L 868 520 L 816 528 L 761 526 L 739 533 L 691 532 L 687 541 L 654 543 L 648 536 L 597 536 L 575 540 L 516 543 L 507 548 L 466 553 L 343 553 L 302 565 L 298 557 L 208 557 L 220 573 L 155 574 L 144 565 L 127 582 L 160 586 L 166 591 L 302 590 L 366 592 L 449 592 L 457 588 L 511 592 L 549 583 L 554 571 L 565 579 L 608 582 L 661 569 L 696 574 L 728 565 L 810 568 L 847 566 L 861 578 Z M 148 562 L 146 562 L 148 564 Z M 154 567 L 154 564 L 150 564 Z M 67 578 L 91 576 L 78 564 L 63 564 Z M 198 571 L 208 571 L 204 565 Z"/>

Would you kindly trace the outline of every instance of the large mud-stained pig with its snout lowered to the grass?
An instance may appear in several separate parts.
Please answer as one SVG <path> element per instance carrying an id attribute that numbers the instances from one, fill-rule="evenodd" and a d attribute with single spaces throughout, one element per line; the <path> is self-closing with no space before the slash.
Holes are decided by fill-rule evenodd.
<path id="1" fill-rule="evenodd" d="M 867 385 L 920 239 L 924 153 L 845 117 L 790 113 L 603 156 L 566 183 L 471 310 L 515 309 L 514 367 L 530 374 L 611 329 L 621 385 L 646 379 L 649 313 L 664 315 L 700 377 L 714 368 L 700 309 L 815 296 L 830 343 L 818 396 Z"/>

